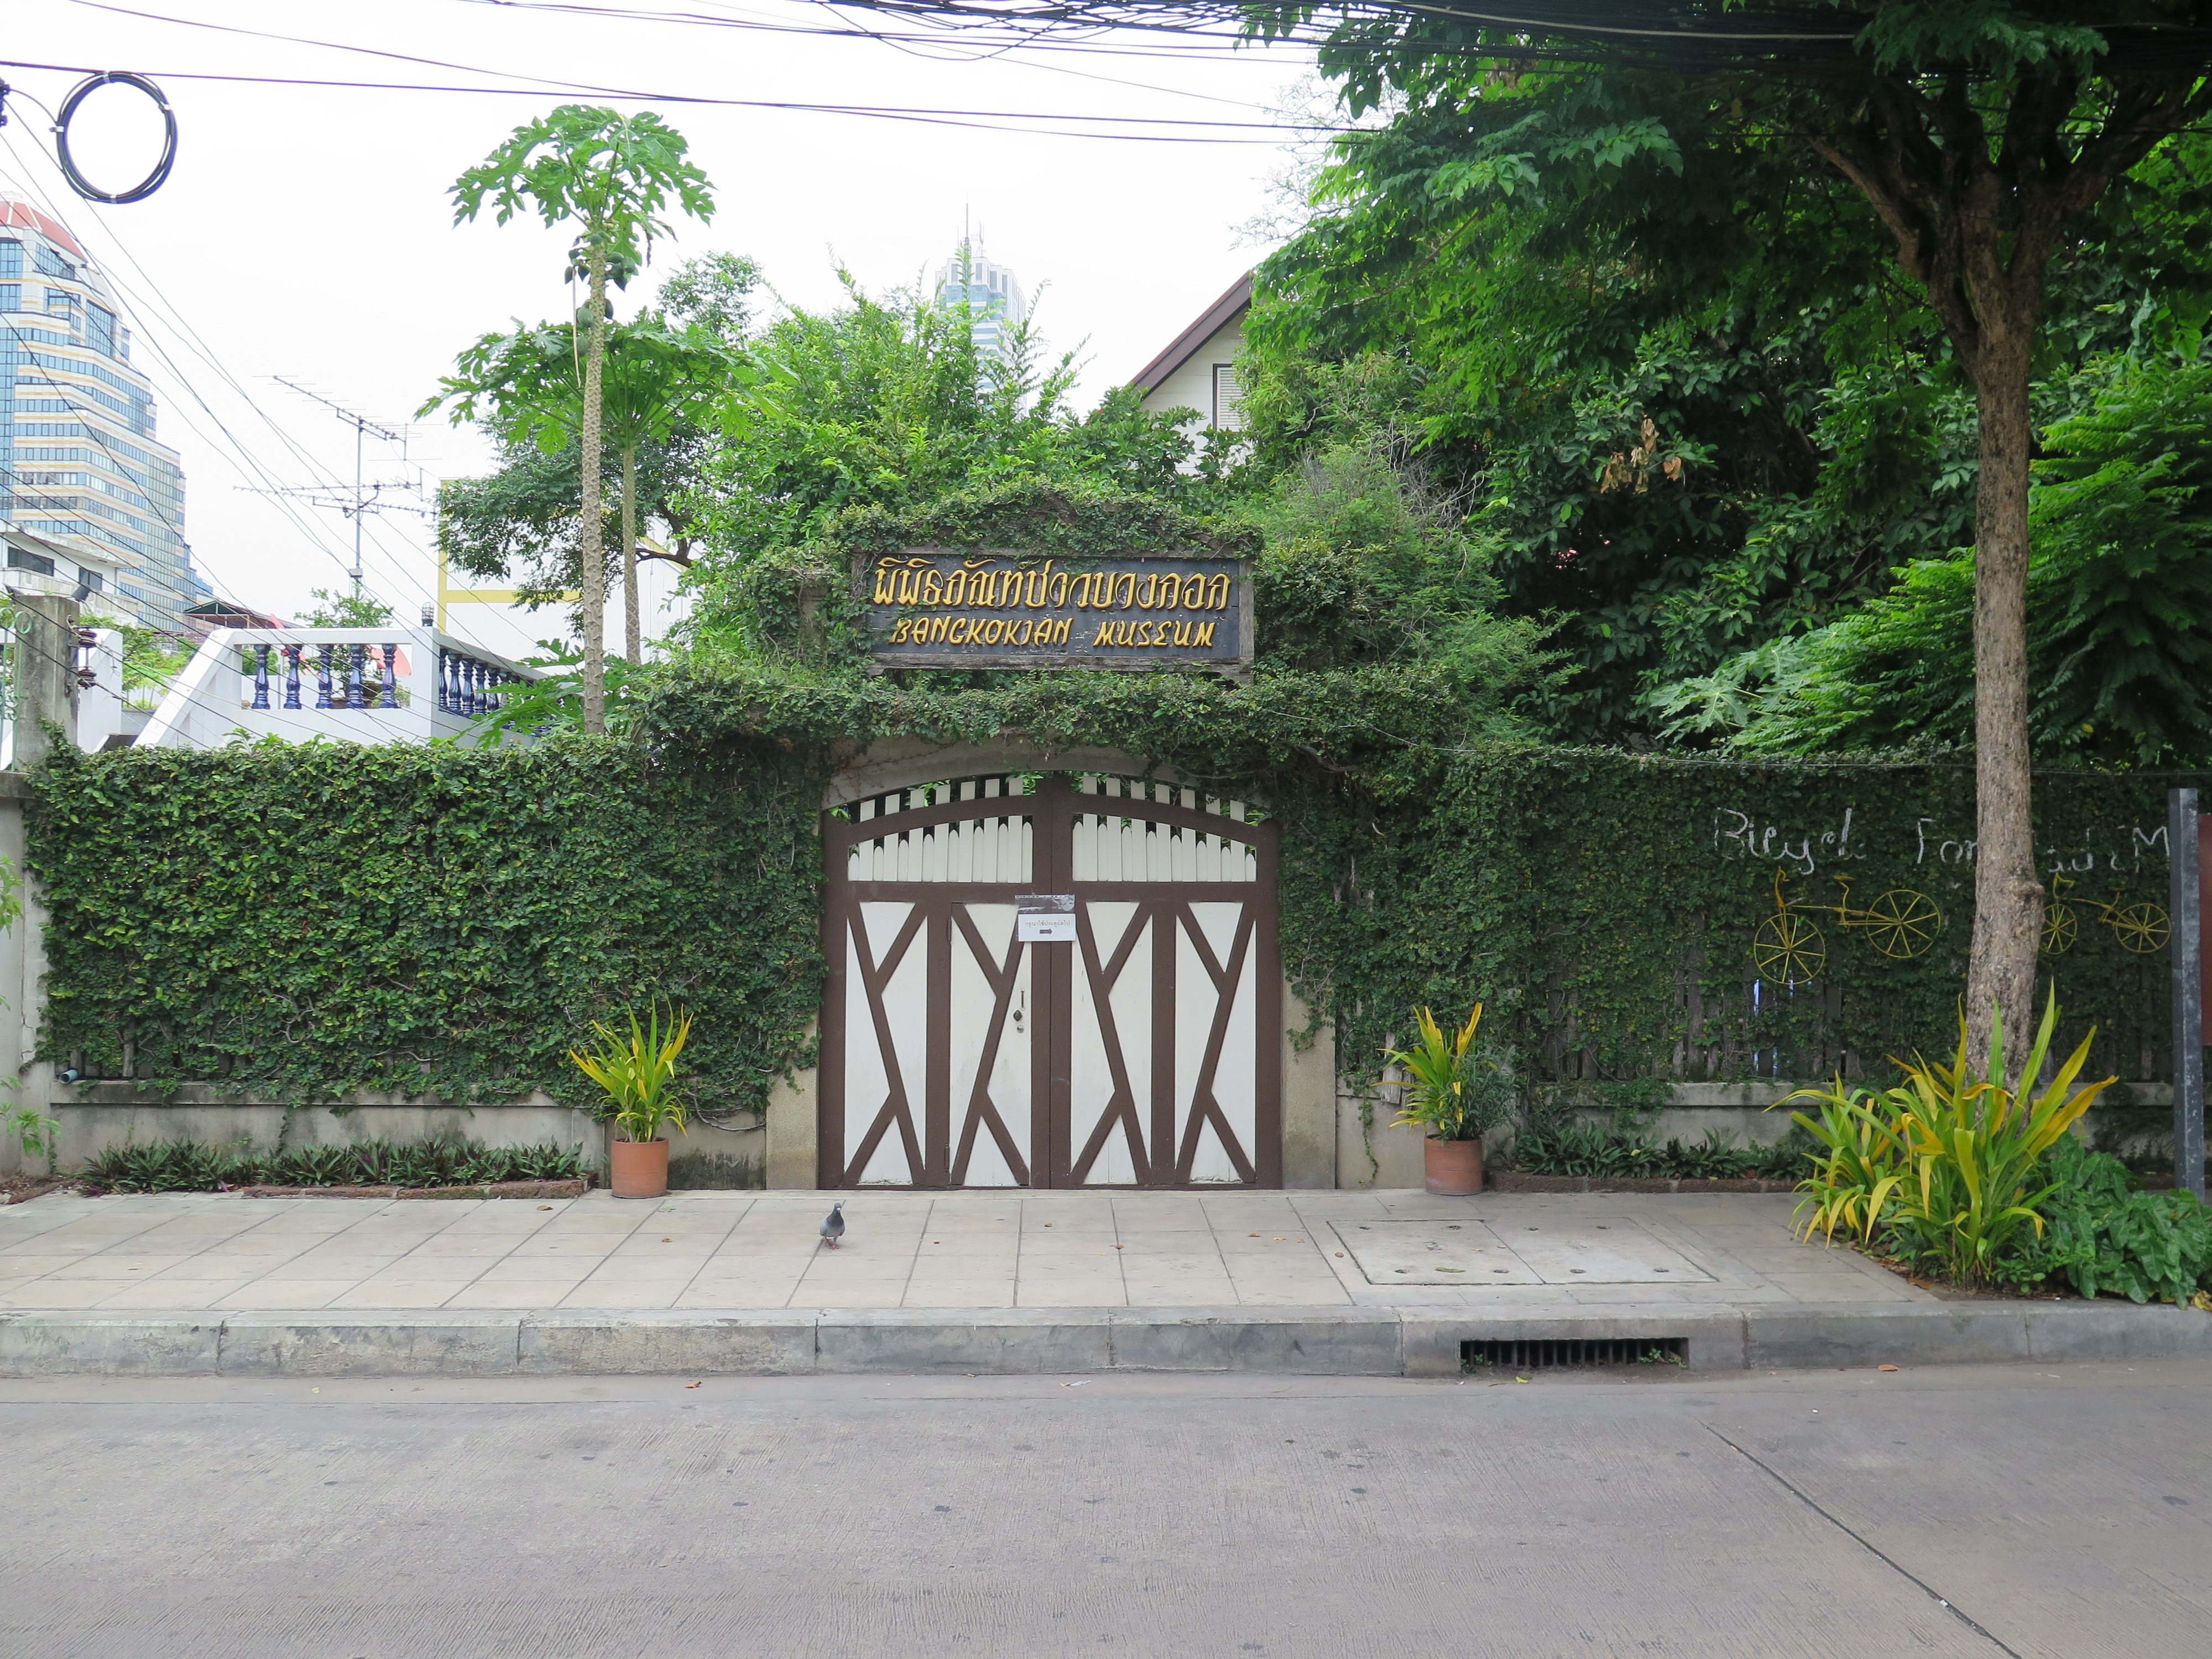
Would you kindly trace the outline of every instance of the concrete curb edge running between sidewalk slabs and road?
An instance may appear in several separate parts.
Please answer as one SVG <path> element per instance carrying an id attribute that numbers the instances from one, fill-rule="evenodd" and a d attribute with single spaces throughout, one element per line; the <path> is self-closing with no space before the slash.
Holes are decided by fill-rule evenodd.
<path id="1" fill-rule="evenodd" d="M 1458 1376 L 1482 1340 L 1683 1343 L 1694 1371 L 2212 1358 L 2132 1303 L 0 1314 L 0 1378 L 1281 1371 Z"/>

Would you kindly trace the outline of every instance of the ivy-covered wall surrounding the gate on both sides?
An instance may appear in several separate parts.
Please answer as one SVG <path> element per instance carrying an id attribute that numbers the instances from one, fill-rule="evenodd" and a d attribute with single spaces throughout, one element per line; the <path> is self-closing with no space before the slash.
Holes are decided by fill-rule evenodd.
<path id="1" fill-rule="evenodd" d="M 1951 1042 L 1962 765 L 1444 750 L 1418 688 L 1358 675 L 927 690 L 690 672 L 653 699 L 648 743 L 58 757 L 31 838 L 51 911 L 44 1053 L 261 1099 L 575 1099 L 580 1026 L 659 991 L 699 1013 L 703 1099 L 757 1106 L 810 1057 L 821 787 L 900 734 L 1099 743 L 1265 801 L 1283 956 L 1349 1075 L 1413 1004 L 1475 998 L 1546 1082 L 1878 1073 Z M 2163 907 L 2168 783 L 2037 787 L 2075 911 L 2048 958 L 2068 1026 L 2095 1024 L 2097 1064 L 2130 1079 L 2166 1073 L 2168 956 L 2126 949 L 2112 918 Z M 1809 984 L 1752 964 L 1776 872 L 1820 936 Z M 1882 894 L 1940 914 L 1924 951 L 1876 949 L 1867 918 L 1905 905 Z"/>

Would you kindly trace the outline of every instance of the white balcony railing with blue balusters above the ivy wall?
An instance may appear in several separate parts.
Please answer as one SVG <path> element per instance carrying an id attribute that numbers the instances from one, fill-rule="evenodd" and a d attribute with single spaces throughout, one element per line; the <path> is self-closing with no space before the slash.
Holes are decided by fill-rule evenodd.
<path id="1" fill-rule="evenodd" d="M 217 628 L 170 681 L 137 748 L 427 743 L 542 679 L 436 628 Z"/>

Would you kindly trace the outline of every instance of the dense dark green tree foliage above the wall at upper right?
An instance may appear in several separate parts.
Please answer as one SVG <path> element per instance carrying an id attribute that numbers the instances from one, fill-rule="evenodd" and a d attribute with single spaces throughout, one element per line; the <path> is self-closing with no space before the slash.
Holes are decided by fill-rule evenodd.
<path id="1" fill-rule="evenodd" d="M 1387 119 L 1334 146 L 1307 221 L 1261 270 L 1243 365 L 1259 462 L 1296 465 L 1360 405 L 1416 434 L 1418 462 L 1467 493 L 1471 533 L 1495 549 L 1500 611 L 1555 622 L 1575 675 L 1533 708 L 1553 737 L 1728 739 L 1801 692 L 1790 641 L 1851 617 L 1898 566 L 1973 540 L 1973 387 L 1929 294 L 1896 270 L 1891 232 L 1805 142 L 1902 126 L 1898 144 L 1929 155 L 1986 137 L 1995 161 L 2011 117 L 2048 113 L 2042 93 L 2013 97 L 2011 53 L 2075 40 L 2075 24 L 2046 38 L 1986 7 L 1869 15 L 1918 51 L 1905 20 L 1938 13 L 2000 42 L 1973 73 L 1947 60 L 1960 124 L 1944 137 L 1918 133 L 1936 102 L 1902 77 L 1867 102 L 1865 73 L 1637 62 L 1668 51 L 1657 38 L 1593 62 L 1588 38 L 1548 55 L 1520 24 L 1411 11 L 1334 24 L 1323 73 L 1349 111 Z M 1292 27 L 1290 9 L 1263 15 Z M 1683 15 L 1747 27 L 1714 7 Z M 2055 148 L 2081 144 L 2115 97 L 2097 73 L 2066 86 L 2081 104 Z M 2088 400 L 2099 374 L 2081 369 L 2101 356 L 2194 361 L 2212 301 L 2208 157 L 2212 139 L 2183 131 L 2073 219 L 2033 363 L 2039 422 Z M 2199 396 L 2194 416 L 2174 414 L 2177 434 L 2203 431 L 2212 407 Z M 2044 619 L 2070 639 L 2048 657 L 2039 719 L 2062 739 L 2044 748 L 2119 757 L 2139 748 L 2126 710 L 2157 712 L 2157 686 L 2190 672 L 2194 566 L 2064 557 L 2093 575 Z M 2159 611 L 2190 613 L 2172 655 L 2141 626 Z M 1971 653 L 1947 644 L 1913 684 L 1924 635 L 1885 637 L 1893 677 L 1876 690 L 1847 666 L 1818 675 L 1863 721 L 1829 750 L 1951 739 Z M 1905 717 L 1867 726 L 1893 695 Z"/>

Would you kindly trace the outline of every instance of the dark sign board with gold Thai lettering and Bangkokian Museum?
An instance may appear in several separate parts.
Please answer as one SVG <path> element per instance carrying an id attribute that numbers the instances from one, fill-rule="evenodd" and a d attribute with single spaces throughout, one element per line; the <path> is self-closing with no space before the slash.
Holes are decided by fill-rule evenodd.
<path id="1" fill-rule="evenodd" d="M 1234 560 L 1060 560 L 905 551 L 865 571 L 876 657 L 973 666 L 1108 664 L 1243 650 Z M 989 661 L 987 661 L 989 659 Z"/>

